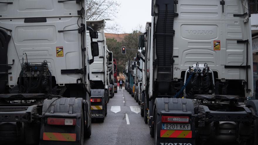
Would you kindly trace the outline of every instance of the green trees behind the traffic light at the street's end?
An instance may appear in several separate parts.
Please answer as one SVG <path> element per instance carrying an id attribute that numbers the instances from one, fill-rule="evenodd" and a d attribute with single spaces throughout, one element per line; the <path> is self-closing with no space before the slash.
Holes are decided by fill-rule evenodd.
<path id="1" fill-rule="evenodd" d="M 133 33 L 125 36 L 122 42 L 118 42 L 116 39 L 106 39 L 108 50 L 113 52 L 113 58 L 117 60 L 117 68 L 120 73 L 125 70 L 125 63 L 128 60 L 134 60 L 138 50 L 138 38 L 142 32 L 135 30 Z M 122 47 L 126 47 L 126 54 L 122 54 Z M 135 49 L 135 50 L 128 50 Z"/>

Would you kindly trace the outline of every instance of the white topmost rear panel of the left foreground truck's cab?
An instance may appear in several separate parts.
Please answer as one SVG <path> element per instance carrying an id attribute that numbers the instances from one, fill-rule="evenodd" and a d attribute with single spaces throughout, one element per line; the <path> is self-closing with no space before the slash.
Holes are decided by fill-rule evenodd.
<path id="1" fill-rule="evenodd" d="M 77 16 L 81 4 L 75 1 L 58 3 L 57 0 L 0 0 L 13 4 L 0 4 L 1 18 Z"/>

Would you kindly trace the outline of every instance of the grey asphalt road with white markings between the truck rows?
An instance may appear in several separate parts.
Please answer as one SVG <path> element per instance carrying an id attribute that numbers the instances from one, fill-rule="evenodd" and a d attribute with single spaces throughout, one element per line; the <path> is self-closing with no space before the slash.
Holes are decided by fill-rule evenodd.
<path id="1" fill-rule="evenodd" d="M 149 127 L 144 123 L 139 111 L 140 106 L 134 98 L 124 88 L 123 92 L 118 90 L 115 96 L 109 100 L 108 114 L 104 122 L 92 122 L 91 137 L 84 139 L 84 144 L 154 144 L 154 139 L 149 134 Z"/>

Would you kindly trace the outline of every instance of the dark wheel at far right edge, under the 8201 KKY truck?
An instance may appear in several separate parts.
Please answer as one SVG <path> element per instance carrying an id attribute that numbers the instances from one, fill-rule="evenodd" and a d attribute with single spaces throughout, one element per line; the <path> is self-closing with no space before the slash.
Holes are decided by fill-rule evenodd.
<path id="1" fill-rule="evenodd" d="M 251 108 L 249 108 L 249 109 L 252 111 L 252 113 L 253 113 L 254 115 L 256 115 L 254 108 L 251 107 Z M 250 144 L 250 145 L 257 145 L 257 144 L 258 144 L 258 138 L 257 138 L 257 136 L 258 136 L 258 120 L 254 120 L 254 124 L 252 125 L 252 135 L 253 135 L 253 138 L 250 139 L 250 140 L 247 142 L 247 144 Z"/>

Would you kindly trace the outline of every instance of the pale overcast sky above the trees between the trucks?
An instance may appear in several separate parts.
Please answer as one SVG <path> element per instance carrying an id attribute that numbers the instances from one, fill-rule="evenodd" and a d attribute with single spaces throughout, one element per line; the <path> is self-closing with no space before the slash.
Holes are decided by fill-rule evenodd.
<path id="1" fill-rule="evenodd" d="M 118 33 L 131 33 L 139 25 L 145 28 L 145 24 L 151 21 L 151 0 L 117 0 L 120 3 L 117 18 L 114 20 L 120 25 Z M 108 24 L 113 23 L 112 21 Z"/>

